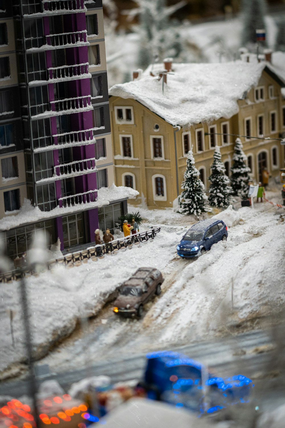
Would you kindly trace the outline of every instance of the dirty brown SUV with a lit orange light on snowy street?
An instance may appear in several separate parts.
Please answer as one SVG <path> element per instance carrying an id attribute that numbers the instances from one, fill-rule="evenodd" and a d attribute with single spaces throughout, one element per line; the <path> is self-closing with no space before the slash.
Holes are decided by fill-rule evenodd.
<path id="1" fill-rule="evenodd" d="M 131 278 L 120 286 L 119 296 L 115 300 L 113 311 L 123 316 L 135 315 L 141 318 L 144 303 L 161 293 L 160 286 L 164 279 L 158 269 L 139 268 Z"/>

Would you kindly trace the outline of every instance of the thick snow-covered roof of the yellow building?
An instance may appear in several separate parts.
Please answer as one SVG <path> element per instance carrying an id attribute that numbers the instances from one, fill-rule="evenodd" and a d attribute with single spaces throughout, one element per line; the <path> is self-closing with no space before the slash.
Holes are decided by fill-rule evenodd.
<path id="1" fill-rule="evenodd" d="M 164 69 L 149 66 L 140 79 L 109 89 L 109 95 L 133 98 L 171 125 L 189 127 L 238 113 L 238 99 L 258 84 L 267 63 L 244 61 L 172 65 L 162 94 L 162 80 L 150 76 Z"/>

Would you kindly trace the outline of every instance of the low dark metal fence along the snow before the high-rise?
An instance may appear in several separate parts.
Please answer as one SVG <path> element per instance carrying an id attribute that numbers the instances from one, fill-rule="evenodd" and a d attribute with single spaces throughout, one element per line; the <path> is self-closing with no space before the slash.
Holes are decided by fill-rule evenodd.
<path id="1" fill-rule="evenodd" d="M 115 253 L 123 248 L 131 247 L 132 245 L 141 242 L 147 242 L 149 239 L 154 239 L 156 234 L 160 231 L 160 227 L 152 227 L 146 232 L 137 233 L 135 235 L 127 236 L 126 238 L 115 239 L 108 244 L 96 245 L 95 247 L 88 247 L 86 250 L 76 251 L 75 253 L 68 253 L 59 259 L 50 260 L 47 262 L 47 269 L 52 269 L 53 266 L 61 264 L 65 266 L 80 265 L 83 260 L 86 262 L 88 259 L 97 260 L 97 257 L 102 257 L 104 254 Z M 0 274 L 0 282 L 17 281 L 24 276 L 35 274 L 29 268 L 20 268 L 11 270 L 9 272 Z"/>

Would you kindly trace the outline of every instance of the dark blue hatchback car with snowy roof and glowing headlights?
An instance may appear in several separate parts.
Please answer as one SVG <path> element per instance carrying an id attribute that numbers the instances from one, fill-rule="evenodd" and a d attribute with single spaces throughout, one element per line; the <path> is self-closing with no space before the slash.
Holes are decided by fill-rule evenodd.
<path id="1" fill-rule="evenodd" d="M 197 257 L 218 241 L 226 241 L 228 228 L 222 220 L 202 220 L 194 224 L 177 245 L 180 257 Z"/>

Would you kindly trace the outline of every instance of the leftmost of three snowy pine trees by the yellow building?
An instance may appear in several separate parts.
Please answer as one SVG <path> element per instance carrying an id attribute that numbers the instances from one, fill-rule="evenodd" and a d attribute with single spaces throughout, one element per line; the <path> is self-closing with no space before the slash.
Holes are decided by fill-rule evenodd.
<path id="1" fill-rule="evenodd" d="M 187 156 L 187 166 L 184 172 L 184 181 L 181 188 L 181 195 L 178 197 L 179 212 L 182 214 L 194 214 L 199 216 L 201 213 L 211 211 L 206 207 L 208 199 L 204 191 L 204 184 L 198 178 L 199 171 L 195 167 L 193 152 L 190 150 Z"/>

